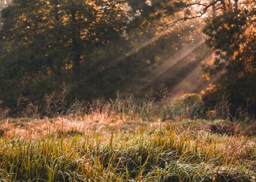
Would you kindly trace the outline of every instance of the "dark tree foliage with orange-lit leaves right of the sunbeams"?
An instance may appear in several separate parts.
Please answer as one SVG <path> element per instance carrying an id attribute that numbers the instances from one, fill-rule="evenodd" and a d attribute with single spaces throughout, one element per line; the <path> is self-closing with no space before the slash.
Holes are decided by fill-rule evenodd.
<path id="1" fill-rule="evenodd" d="M 218 97 L 225 96 L 232 108 L 247 108 L 255 114 L 255 1 L 230 5 L 215 18 L 208 19 L 204 33 L 215 58 L 204 66 L 206 73 L 220 74 Z M 234 110 L 232 111 L 234 114 Z"/>

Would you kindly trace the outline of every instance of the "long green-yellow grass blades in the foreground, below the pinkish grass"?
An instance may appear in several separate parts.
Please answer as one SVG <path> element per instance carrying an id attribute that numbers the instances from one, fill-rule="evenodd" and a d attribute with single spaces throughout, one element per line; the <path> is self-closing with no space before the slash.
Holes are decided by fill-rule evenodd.
<path id="1" fill-rule="evenodd" d="M 5 136 L 0 181 L 255 181 L 255 138 L 194 131 L 187 123 L 207 122 Z"/>

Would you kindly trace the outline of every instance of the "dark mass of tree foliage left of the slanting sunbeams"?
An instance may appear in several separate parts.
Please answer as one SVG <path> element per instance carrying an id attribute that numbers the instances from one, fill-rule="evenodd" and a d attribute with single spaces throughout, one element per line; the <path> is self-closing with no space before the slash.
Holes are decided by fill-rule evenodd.
<path id="1" fill-rule="evenodd" d="M 9 105 L 20 94 L 36 101 L 63 83 L 69 86 L 72 99 L 113 96 L 150 66 L 140 57 L 127 57 L 132 42 L 139 34 L 153 36 L 157 30 L 152 22 L 182 5 L 174 1 L 150 5 L 138 1 L 13 1 L 2 11 L 5 54 L 0 62 L 0 98 Z M 160 16 L 167 6 L 172 8 Z"/>

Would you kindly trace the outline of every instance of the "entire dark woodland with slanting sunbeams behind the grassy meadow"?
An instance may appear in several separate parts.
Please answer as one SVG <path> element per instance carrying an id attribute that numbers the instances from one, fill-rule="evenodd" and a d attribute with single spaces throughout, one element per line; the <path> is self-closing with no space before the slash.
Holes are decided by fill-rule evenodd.
<path id="1" fill-rule="evenodd" d="M 40 100 L 63 85 L 69 99 L 89 100 L 165 85 L 171 95 L 202 91 L 209 105 L 224 97 L 234 110 L 255 113 L 255 1 L 1 6 L 0 99 L 7 105 L 21 94 Z"/>

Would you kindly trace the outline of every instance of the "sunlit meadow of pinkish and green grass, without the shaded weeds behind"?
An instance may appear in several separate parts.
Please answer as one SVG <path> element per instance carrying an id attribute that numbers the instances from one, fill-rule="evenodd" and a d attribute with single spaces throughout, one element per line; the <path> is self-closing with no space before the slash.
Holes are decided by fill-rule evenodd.
<path id="1" fill-rule="evenodd" d="M 119 105 L 1 120 L 0 181 L 256 180 L 253 121 L 188 119 L 185 112 L 163 120 L 159 107 Z"/>

